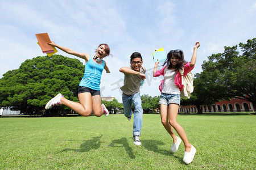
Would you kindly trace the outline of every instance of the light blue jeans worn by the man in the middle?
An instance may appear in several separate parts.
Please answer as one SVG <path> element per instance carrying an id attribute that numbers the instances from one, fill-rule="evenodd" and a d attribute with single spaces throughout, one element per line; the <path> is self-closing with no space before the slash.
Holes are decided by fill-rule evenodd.
<path id="1" fill-rule="evenodd" d="M 134 105 L 134 121 L 133 121 L 133 135 L 139 136 L 141 135 L 142 128 L 142 116 L 143 110 L 141 106 L 141 94 L 138 92 L 137 94 L 127 96 L 122 95 L 123 99 L 123 111 L 125 112 L 125 117 L 131 116 L 131 104 Z"/>

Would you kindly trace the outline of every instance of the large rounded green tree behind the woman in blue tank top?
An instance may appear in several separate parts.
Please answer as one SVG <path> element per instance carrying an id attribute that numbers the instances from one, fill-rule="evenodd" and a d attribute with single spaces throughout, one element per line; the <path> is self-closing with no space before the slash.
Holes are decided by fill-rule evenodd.
<path id="1" fill-rule="evenodd" d="M 83 73 L 84 66 L 78 59 L 61 55 L 27 59 L 19 69 L 7 71 L 0 79 L 0 105 L 39 113 L 58 93 L 79 101 L 77 87 Z M 68 109 L 64 105 L 61 108 Z"/>

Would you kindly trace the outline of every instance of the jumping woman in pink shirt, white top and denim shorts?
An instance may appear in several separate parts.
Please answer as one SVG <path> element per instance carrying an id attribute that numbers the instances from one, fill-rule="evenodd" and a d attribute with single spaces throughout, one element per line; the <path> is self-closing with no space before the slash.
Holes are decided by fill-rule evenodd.
<path id="1" fill-rule="evenodd" d="M 196 42 L 190 62 L 185 62 L 182 50 L 171 50 L 167 54 L 167 59 L 163 64 L 163 66 L 165 66 L 162 69 L 157 70 L 159 63 L 159 61 L 157 61 L 155 62 L 153 71 L 153 76 L 164 76 L 163 84 L 159 87 L 160 91 L 162 91 L 159 104 L 162 124 L 171 135 L 172 139 L 174 139 L 171 146 L 171 152 L 176 152 L 178 150 L 182 139 L 185 146 L 183 162 L 186 164 L 192 162 L 196 154 L 196 148 L 188 142 L 184 129 L 176 120 L 180 105 L 180 90 L 183 88 L 183 85 L 181 85 L 181 74 L 179 73 L 179 69 L 184 69 L 185 76 L 195 67 L 196 52 L 199 46 L 200 42 Z M 175 135 L 172 127 L 176 130 L 181 139 Z"/>

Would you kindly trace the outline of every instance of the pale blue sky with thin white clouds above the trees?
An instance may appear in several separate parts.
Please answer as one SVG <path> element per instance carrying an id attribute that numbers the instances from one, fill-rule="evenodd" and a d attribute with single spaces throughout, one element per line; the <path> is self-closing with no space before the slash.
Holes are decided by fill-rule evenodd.
<path id="1" fill-rule="evenodd" d="M 255 38 L 255 18 L 252 0 L 0 0 L 0 78 L 26 59 L 45 56 L 35 33 L 47 32 L 56 44 L 77 52 L 93 54 L 98 44 L 109 44 L 113 57 L 105 61 L 111 73 L 102 74 L 101 96 L 115 97 L 120 103 L 119 68 L 130 65 L 131 53 L 140 52 L 148 70 L 141 95 L 158 96 L 162 78 L 152 78 L 154 49 L 163 47 L 167 53 L 183 49 L 190 61 L 193 45 L 200 41 L 192 71 L 200 73 L 208 56 Z M 60 50 L 56 54 L 77 58 Z"/>

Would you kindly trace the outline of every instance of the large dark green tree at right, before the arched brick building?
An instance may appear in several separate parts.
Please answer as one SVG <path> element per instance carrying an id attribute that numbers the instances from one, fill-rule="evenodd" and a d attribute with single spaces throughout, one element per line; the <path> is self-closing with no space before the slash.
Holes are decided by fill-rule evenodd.
<path id="1" fill-rule="evenodd" d="M 194 92 L 187 103 L 213 104 L 222 99 L 237 97 L 253 103 L 256 108 L 256 39 L 240 43 L 242 55 L 233 47 L 225 46 L 224 53 L 212 54 L 202 65 L 203 71 L 195 75 Z"/>

